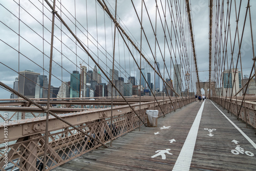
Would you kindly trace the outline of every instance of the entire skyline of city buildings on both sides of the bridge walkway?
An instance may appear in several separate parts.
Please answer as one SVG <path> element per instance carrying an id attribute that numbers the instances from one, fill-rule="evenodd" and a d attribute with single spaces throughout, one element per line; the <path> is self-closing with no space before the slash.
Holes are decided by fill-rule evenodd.
<path id="1" fill-rule="evenodd" d="M 100 80 L 101 75 L 100 75 L 99 70 L 97 69 L 97 67 L 95 66 L 93 71 L 91 71 L 91 70 L 87 71 L 86 67 L 84 67 L 84 66 L 82 66 L 81 68 L 82 68 L 81 72 L 85 72 L 86 73 L 86 76 L 84 76 L 83 79 L 85 79 L 85 80 L 88 79 L 89 82 L 83 82 L 82 83 L 81 82 L 82 81 L 82 75 L 79 73 L 79 71 L 73 71 L 73 73 L 70 74 L 71 75 L 70 80 L 69 81 L 63 81 L 66 84 L 66 87 L 64 89 L 67 89 L 67 87 L 70 86 L 69 87 L 69 89 L 70 89 L 69 90 L 70 91 L 69 97 L 72 98 L 72 97 L 79 97 L 79 96 L 81 96 L 81 97 L 109 96 L 108 92 L 111 92 L 110 87 L 107 87 L 109 85 L 109 83 L 101 82 L 101 80 Z M 176 90 L 178 88 L 179 81 L 181 81 L 181 77 L 179 76 L 180 75 L 179 72 L 181 70 L 180 69 L 180 65 L 175 65 L 174 69 L 177 72 L 177 78 L 174 78 L 174 83 L 173 83 L 174 84 L 174 90 Z M 123 95 L 127 95 L 127 94 L 130 95 L 132 90 L 133 90 L 133 86 L 138 86 L 138 84 L 136 84 L 136 81 L 135 81 L 136 77 L 135 76 L 133 76 L 133 77 L 129 76 L 128 79 L 126 79 L 126 81 L 124 81 L 123 77 L 118 77 L 119 71 L 118 70 L 114 70 L 114 71 L 115 71 L 114 72 L 114 74 L 115 74 L 115 79 L 114 79 L 115 86 L 118 87 L 118 90 L 121 90 Z M 40 75 L 39 73 L 35 73 L 33 70 L 25 70 L 25 71 L 22 71 L 20 73 L 21 73 L 21 75 L 20 75 L 20 80 L 21 81 L 20 82 L 23 84 L 23 86 L 19 85 L 18 77 L 15 77 L 15 81 L 13 82 L 14 90 L 17 91 L 17 89 L 22 87 L 22 89 L 20 89 L 20 91 L 23 91 L 22 93 L 26 97 L 29 97 L 29 98 L 47 98 L 47 90 L 48 90 L 48 77 L 47 77 L 47 75 Z M 112 73 L 111 69 L 110 69 L 110 73 Z M 224 85 L 223 89 L 224 88 L 232 88 L 231 87 L 231 82 L 233 80 L 233 73 L 234 73 L 234 71 L 232 70 L 232 72 L 231 72 L 231 77 L 229 78 L 229 86 L 228 87 L 227 87 L 227 74 L 228 74 L 228 70 L 224 71 L 223 73 L 225 73 L 225 74 L 222 74 L 223 75 L 223 85 Z M 237 71 L 237 73 L 238 74 L 236 75 L 236 79 L 238 80 L 237 82 L 239 82 L 237 87 L 239 87 L 239 89 L 241 89 L 241 82 L 242 82 L 242 80 L 241 80 L 241 72 Z M 91 74 L 91 75 L 88 75 L 88 74 Z M 31 81 L 30 81 L 29 82 L 30 86 L 27 86 L 27 84 L 25 85 L 24 82 L 27 81 L 26 77 L 24 77 L 25 75 L 26 75 L 26 77 L 28 77 L 31 80 L 36 80 L 36 83 L 34 82 L 32 84 Z M 36 78 L 35 78 L 35 76 L 36 76 Z M 110 76 L 111 76 L 111 74 L 110 74 Z M 78 80 L 78 78 L 79 78 L 79 80 Z M 93 78 L 94 79 L 97 78 L 97 81 L 93 80 Z M 148 79 L 148 78 L 151 78 L 151 73 L 146 73 L 145 74 L 145 78 L 146 78 L 147 81 L 149 81 L 149 84 L 152 87 L 154 84 L 153 84 L 153 82 L 151 82 L 151 79 Z M 166 82 L 168 82 L 169 80 L 170 79 L 166 78 Z M 61 87 L 64 86 L 63 82 L 61 83 L 60 86 L 57 86 L 57 87 L 51 86 L 51 92 L 55 92 L 55 96 L 52 96 L 52 94 L 51 94 L 51 97 L 57 97 L 58 91 L 61 90 L 62 89 Z M 69 83 L 67 83 L 67 82 L 69 82 Z M 131 86 L 129 86 L 130 83 L 131 83 Z M 171 82 L 169 82 L 169 83 L 171 83 Z M 33 85 L 33 86 L 31 86 L 31 85 Z M 80 89 L 80 86 L 82 86 L 82 85 L 85 87 L 85 91 L 83 91 L 84 88 Z M 24 88 L 24 86 L 25 87 L 27 86 L 28 88 Z M 143 87 L 143 85 L 142 85 L 142 87 Z M 31 93 L 31 94 L 28 94 L 27 90 L 30 90 L 31 92 L 29 92 L 29 93 Z M 130 93 L 125 92 L 125 90 L 126 91 L 129 90 Z M 145 85 L 143 87 L 143 90 L 148 90 L 149 91 L 150 89 L 147 87 L 147 85 Z M 153 87 L 152 90 L 154 90 L 154 87 Z M 156 90 L 158 90 L 158 89 L 156 89 Z M 164 87 L 162 88 L 162 90 L 166 91 Z M 65 91 L 67 91 L 67 90 L 64 90 L 64 92 Z M 146 93 L 148 91 L 144 91 L 144 93 Z M 185 91 L 186 90 L 182 90 L 182 92 L 185 92 Z M 27 94 L 25 92 L 27 92 Z M 88 94 L 90 94 L 90 92 L 91 92 L 91 95 L 88 95 Z M 176 92 L 178 94 L 181 94 L 179 89 L 176 90 Z M 92 93 L 93 93 L 93 95 L 92 95 Z M 63 90 L 61 90 L 61 94 L 62 94 L 61 96 L 63 97 Z M 67 92 L 64 93 L 64 94 L 65 94 L 65 97 L 68 97 L 67 96 Z M 113 95 L 114 96 L 120 96 L 120 94 L 117 93 L 116 91 L 113 92 Z M 16 96 L 14 96 L 13 94 L 10 95 L 10 98 L 14 98 L 14 97 L 16 97 Z M 58 97 L 60 97 L 60 96 L 58 96 Z"/>

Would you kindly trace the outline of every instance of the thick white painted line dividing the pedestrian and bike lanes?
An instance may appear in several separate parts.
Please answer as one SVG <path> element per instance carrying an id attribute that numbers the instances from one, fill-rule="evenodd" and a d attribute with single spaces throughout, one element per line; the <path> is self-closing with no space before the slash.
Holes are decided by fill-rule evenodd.
<path id="1" fill-rule="evenodd" d="M 197 140 L 199 124 L 200 124 L 202 112 L 204 109 L 204 102 L 205 101 L 203 101 L 201 108 L 199 109 L 197 116 L 194 120 L 194 123 L 190 128 L 190 131 L 180 151 L 179 157 L 176 160 L 173 170 L 185 171 L 185 170 L 189 170 L 190 168 L 190 164 L 191 164 L 191 160 L 193 157 L 194 148 Z"/>

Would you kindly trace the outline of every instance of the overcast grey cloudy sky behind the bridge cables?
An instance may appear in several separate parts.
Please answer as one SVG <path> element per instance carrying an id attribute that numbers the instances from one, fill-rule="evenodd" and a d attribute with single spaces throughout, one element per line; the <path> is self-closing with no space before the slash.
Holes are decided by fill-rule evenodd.
<path id="1" fill-rule="evenodd" d="M 48 75 L 49 70 L 49 56 L 50 56 L 50 40 L 51 40 L 51 10 L 46 3 L 44 8 L 42 8 L 42 1 L 32 0 L 30 2 L 21 1 L 20 8 L 15 1 L 4 1 L 0 0 L 0 54 L 1 54 L 1 78 L 0 80 L 6 83 L 11 88 L 13 87 L 13 81 L 15 77 L 18 76 L 17 72 L 24 70 L 34 70 L 41 75 Z M 60 9 L 60 4 L 61 6 Z M 75 2 L 75 3 L 74 3 Z M 161 1 L 163 9 L 165 8 L 165 1 Z M 158 1 L 158 7 L 163 19 L 163 11 L 161 2 Z M 173 1 L 168 1 L 169 5 Z M 185 2 L 185 1 L 184 1 Z M 188 26 L 187 26 L 187 14 L 185 3 L 181 1 L 178 5 L 182 9 L 180 12 L 182 14 L 182 22 L 185 29 L 185 37 L 187 40 L 186 44 L 190 44 L 190 39 L 188 35 Z M 199 78 L 201 81 L 208 81 L 209 79 L 209 10 L 208 10 L 208 1 L 203 0 L 193 0 L 189 1 L 191 3 L 191 13 L 193 17 L 193 29 L 196 42 L 196 53 L 197 53 L 197 62 L 199 69 Z M 226 4 L 226 1 L 224 1 Z M 232 1 L 234 6 L 234 1 Z M 237 1 L 238 3 L 238 1 Z M 156 23 L 156 3 L 155 1 L 145 1 L 148 14 L 150 15 L 151 22 L 155 29 Z M 115 1 L 108 1 L 107 5 L 114 14 Z M 134 1 L 136 11 L 138 16 L 141 17 L 141 1 Z M 175 11 L 175 6 L 177 4 L 173 3 L 173 10 Z M 245 18 L 246 10 L 246 1 L 242 1 L 241 4 L 241 14 L 239 19 L 239 36 L 241 38 L 243 21 Z M 252 17 L 252 28 L 255 28 L 255 16 L 256 16 L 256 2 L 251 1 L 251 17 Z M 56 2 L 56 11 L 61 15 L 65 20 L 71 30 L 77 35 L 77 37 L 83 42 L 84 46 L 89 50 L 90 54 L 94 59 L 100 64 L 100 66 L 107 72 L 109 68 L 112 68 L 113 60 L 113 37 L 114 37 L 114 26 L 111 22 L 110 17 L 103 12 L 101 6 L 95 1 L 57 1 Z M 237 4 L 237 8 L 239 4 Z M 226 6 L 224 6 L 226 11 Z M 60 12 L 61 11 L 61 12 Z M 76 12 L 75 12 L 76 11 Z M 147 45 L 145 36 L 142 36 L 142 48 L 143 54 L 148 58 L 148 60 L 154 66 L 154 58 L 152 55 L 155 53 L 155 36 L 148 19 L 145 8 L 143 7 L 143 16 L 142 16 L 142 25 L 143 29 L 147 35 L 150 47 Z M 29 12 L 29 13 L 28 13 Z M 45 15 L 42 14 L 44 12 Z M 215 11 L 214 11 L 215 12 Z M 174 12 L 175 16 L 176 13 Z M 120 25 L 124 28 L 125 32 L 133 39 L 135 44 L 140 48 L 140 25 L 138 22 L 137 15 L 133 8 L 131 1 L 118 0 L 117 3 L 117 20 Z M 159 14 L 157 14 L 159 15 Z M 166 19 L 168 28 L 171 29 L 171 20 L 166 7 Z M 226 12 L 224 13 L 226 20 Z M 18 20 L 20 17 L 20 22 Z M 174 16 L 174 17 L 175 17 Z M 77 19 L 75 20 L 74 17 Z M 176 19 L 176 22 L 178 20 Z M 77 27 L 75 27 L 75 24 Z M 164 23 L 163 23 L 164 24 Z M 44 28 L 42 27 L 44 25 Z M 230 26 L 231 26 L 231 41 L 234 39 L 234 31 L 236 28 L 236 13 L 234 8 L 231 10 L 230 16 Z M 252 46 L 249 30 L 249 16 L 247 16 L 246 30 L 243 37 L 243 44 L 241 46 L 241 55 L 242 55 L 242 65 L 243 65 L 243 75 L 249 75 L 249 72 L 252 67 Z M 80 71 L 79 63 L 87 66 L 89 70 L 93 70 L 95 63 L 88 57 L 86 53 L 82 50 L 80 46 L 76 46 L 76 41 L 68 30 L 60 24 L 59 20 L 55 18 L 55 28 L 54 28 L 54 51 L 53 51 L 53 77 L 52 85 L 59 87 L 61 80 L 69 81 L 70 73 L 77 70 Z M 60 31 L 62 30 L 62 32 Z M 88 30 L 88 32 L 87 32 Z M 255 36 L 255 30 L 253 30 L 253 35 Z M 178 30 L 179 31 L 179 30 Z M 20 37 L 18 36 L 20 35 Z M 174 40 L 174 33 L 171 34 L 172 39 Z M 129 75 L 137 75 L 138 73 L 137 66 L 132 59 L 132 55 L 129 53 L 129 50 L 125 47 L 124 42 L 120 34 L 116 35 L 116 47 L 115 47 L 115 69 L 120 70 L 122 73 L 120 76 L 128 77 Z M 166 32 L 168 39 L 168 33 Z M 166 69 L 163 68 L 163 59 L 162 55 L 165 51 L 165 63 L 167 66 L 168 73 L 172 72 L 171 77 L 173 79 L 173 70 L 170 69 L 170 54 L 167 44 L 164 46 L 164 34 L 162 31 L 162 25 L 160 22 L 160 17 L 157 17 L 157 38 L 159 41 L 159 48 L 156 48 L 157 61 L 160 63 L 160 72 L 163 75 L 165 71 L 164 78 L 168 78 Z M 254 38 L 255 39 L 255 38 Z M 127 39 L 126 39 L 127 40 Z M 230 40 L 229 40 L 230 41 Z M 62 43 L 61 43 L 62 42 Z M 99 42 L 97 44 L 97 42 Z M 175 46 L 175 41 L 173 46 Z M 237 40 L 238 42 L 238 40 Z M 170 41 L 168 42 L 170 46 Z M 228 42 L 228 44 L 230 44 Z M 129 44 L 134 57 L 137 62 L 139 62 L 140 54 L 136 53 L 136 50 L 132 48 L 132 45 Z M 234 60 L 237 60 L 238 54 L 238 44 L 235 46 L 234 50 Z M 189 65 L 191 75 L 193 75 L 193 70 L 195 69 L 193 55 L 191 55 L 191 46 L 189 46 Z M 228 60 L 231 59 L 230 45 L 228 46 Z M 179 59 L 179 47 L 174 47 L 171 49 L 172 57 L 174 60 L 175 49 L 177 50 L 177 62 L 180 63 Z M 151 52 L 152 50 L 152 52 Z M 160 51 L 161 50 L 161 51 Z M 20 53 L 18 53 L 20 52 Z M 162 54 L 161 54 L 162 53 Z M 150 66 L 142 60 L 142 68 L 145 68 L 145 72 L 153 73 Z M 239 63 L 240 66 L 240 63 Z M 172 66 L 173 67 L 173 66 Z M 241 68 L 241 67 L 238 67 Z M 103 76 L 103 73 L 101 73 Z M 193 75 L 195 78 L 195 75 Z M 104 76 L 102 82 L 107 82 Z M 152 75 L 153 80 L 153 75 Z M 162 84 L 161 84 L 162 86 Z M 10 98 L 10 92 L 0 89 L 1 98 Z"/>

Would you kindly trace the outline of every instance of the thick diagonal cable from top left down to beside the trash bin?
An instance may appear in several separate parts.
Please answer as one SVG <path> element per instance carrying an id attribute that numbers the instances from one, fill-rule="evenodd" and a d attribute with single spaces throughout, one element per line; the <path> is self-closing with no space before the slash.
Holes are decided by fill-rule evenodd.
<path id="1" fill-rule="evenodd" d="M 45 2 L 48 4 L 48 6 L 53 10 L 52 5 L 48 2 L 48 0 L 45 0 Z M 125 99 L 125 97 L 122 95 L 122 93 L 117 89 L 117 87 L 115 86 L 115 84 L 112 82 L 112 80 L 108 77 L 108 75 L 106 75 L 106 73 L 104 72 L 104 70 L 100 67 L 99 63 L 92 57 L 92 55 L 89 53 L 89 51 L 83 46 L 82 42 L 79 40 L 79 38 L 72 32 L 72 30 L 69 28 L 69 26 L 66 24 L 66 22 L 61 18 L 61 16 L 56 13 L 55 14 L 61 21 L 61 23 L 69 30 L 69 32 L 73 35 L 73 37 L 77 40 L 77 42 L 79 43 L 79 45 L 83 48 L 84 51 L 86 51 L 86 53 L 90 56 L 90 58 L 93 60 L 93 62 L 95 63 L 95 65 L 100 69 L 100 71 L 104 74 L 104 76 L 111 82 L 111 84 L 113 84 L 113 87 L 116 89 L 116 91 L 122 96 L 122 98 L 124 99 L 124 101 L 130 106 L 130 108 L 132 109 L 132 111 L 137 115 L 137 117 L 142 121 L 142 123 L 146 126 L 146 124 L 143 122 L 143 120 L 139 117 L 139 115 L 135 112 L 135 110 L 133 109 L 133 107 L 131 106 L 131 104 Z"/>

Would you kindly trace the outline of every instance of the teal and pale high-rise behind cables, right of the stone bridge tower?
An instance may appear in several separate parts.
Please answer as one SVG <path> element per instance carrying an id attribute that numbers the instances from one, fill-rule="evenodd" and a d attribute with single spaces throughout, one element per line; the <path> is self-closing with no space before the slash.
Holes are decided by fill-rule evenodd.
<path id="1" fill-rule="evenodd" d="M 234 76 L 236 74 L 236 76 Z M 222 72 L 222 78 L 223 78 L 223 96 L 233 96 L 239 90 L 242 88 L 242 81 L 241 81 L 241 71 L 238 71 L 236 69 L 231 69 L 230 75 L 229 70 L 225 70 Z M 234 81 L 234 84 L 233 84 Z M 233 92 L 232 92 L 232 86 L 233 86 Z M 238 94 L 238 96 L 242 96 L 242 92 Z"/>

